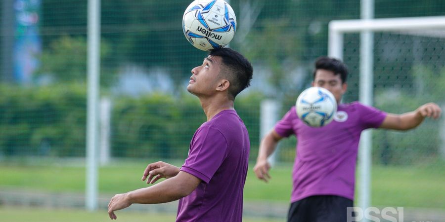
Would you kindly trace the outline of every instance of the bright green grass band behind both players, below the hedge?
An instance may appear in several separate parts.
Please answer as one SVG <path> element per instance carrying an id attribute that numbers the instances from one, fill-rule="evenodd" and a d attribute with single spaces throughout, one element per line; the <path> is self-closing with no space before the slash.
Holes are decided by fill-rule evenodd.
<path id="1" fill-rule="evenodd" d="M 140 180 L 148 162 L 115 163 L 99 170 L 101 194 L 122 193 L 147 186 Z M 66 164 L 68 165 L 68 164 Z M 71 164 L 72 165 L 72 164 Z M 177 166 L 180 163 L 176 163 Z M 272 168 L 269 183 L 255 178 L 250 164 L 244 189 L 246 201 L 287 203 L 291 192 L 290 164 Z M 0 164 L 0 188 L 54 192 L 84 192 L 85 168 L 53 164 L 25 166 Z M 445 164 L 430 166 L 373 166 L 372 205 L 445 208 Z"/>

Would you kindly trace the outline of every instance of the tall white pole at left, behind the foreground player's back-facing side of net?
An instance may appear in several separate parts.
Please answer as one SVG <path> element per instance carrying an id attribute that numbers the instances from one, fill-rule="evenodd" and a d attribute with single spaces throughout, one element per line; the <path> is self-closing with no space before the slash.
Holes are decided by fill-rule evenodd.
<path id="1" fill-rule="evenodd" d="M 100 0 L 88 0 L 87 210 L 97 209 Z"/>

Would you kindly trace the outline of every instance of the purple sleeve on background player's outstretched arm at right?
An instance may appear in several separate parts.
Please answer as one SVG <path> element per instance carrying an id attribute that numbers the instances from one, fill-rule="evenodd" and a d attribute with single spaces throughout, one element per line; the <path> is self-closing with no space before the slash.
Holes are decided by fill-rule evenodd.
<path id="1" fill-rule="evenodd" d="M 360 122 L 363 129 L 379 128 L 387 115 L 386 112 L 377 108 L 366 106 L 359 103 Z"/>

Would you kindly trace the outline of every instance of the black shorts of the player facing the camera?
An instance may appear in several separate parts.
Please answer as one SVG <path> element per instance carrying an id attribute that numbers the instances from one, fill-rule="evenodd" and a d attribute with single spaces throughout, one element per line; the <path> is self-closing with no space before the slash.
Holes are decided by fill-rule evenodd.
<path id="1" fill-rule="evenodd" d="M 290 205 L 288 222 L 346 222 L 347 207 L 354 202 L 333 195 L 310 196 Z"/>

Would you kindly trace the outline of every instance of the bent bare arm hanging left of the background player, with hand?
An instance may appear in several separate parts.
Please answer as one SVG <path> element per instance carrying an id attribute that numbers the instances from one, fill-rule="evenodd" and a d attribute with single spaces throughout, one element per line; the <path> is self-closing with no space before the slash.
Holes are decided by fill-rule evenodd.
<path id="1" fill-rule="evenodd" d="M 267 161 L 269 157 L 276 148 L 278 141 L 283 139 L 278 133 L 272 129 L 267 135 L 261 140 L 260 150 L 258 151 L 257 163 L 254 166 L 255 174 L 258 179 L 267 182 L 270 179 L 269 169 L 270 164 Z"/>

